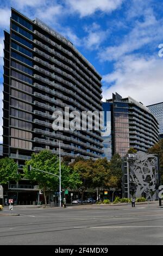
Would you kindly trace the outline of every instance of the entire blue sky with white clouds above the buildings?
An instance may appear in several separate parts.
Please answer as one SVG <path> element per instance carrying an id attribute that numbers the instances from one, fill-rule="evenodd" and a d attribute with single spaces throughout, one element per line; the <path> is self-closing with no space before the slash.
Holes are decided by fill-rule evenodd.
<path id="1" fill-rule="evenodd" d="M 1 109 L 3 29 L 9 29 L 10 7 L 73 42 L 103 76 L 103 100 L 117 92 L 145 105 L 163 101 L 162 0 L 0 0 Z"/>

